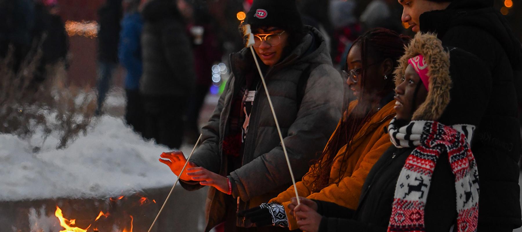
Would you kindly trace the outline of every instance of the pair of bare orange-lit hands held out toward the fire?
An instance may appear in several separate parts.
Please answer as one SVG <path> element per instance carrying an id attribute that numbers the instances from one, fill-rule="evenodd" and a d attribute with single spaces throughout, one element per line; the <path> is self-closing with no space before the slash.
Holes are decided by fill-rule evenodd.
<path id="1" fill-rule="evenodd" d="M 181 169 L 185 165 L 187 159 L 183 152 L 164 152 L 160 155 L 161 163 L 170 167 L 170 170 L 179 176 Z M 169 160 L 165 160 L 169 159 Z M 201 185 L 209 185 L 221 192 L 229 192 L 228 178 L 217 173 L 211 172 L 203 167 L 198 167 L 192 162 L 188 162 L 186 170 L 182 173 L 180 179 L 185 181 L 199 181 Z"/>

